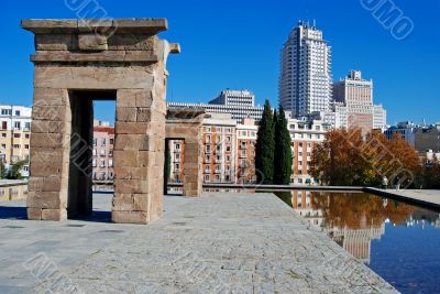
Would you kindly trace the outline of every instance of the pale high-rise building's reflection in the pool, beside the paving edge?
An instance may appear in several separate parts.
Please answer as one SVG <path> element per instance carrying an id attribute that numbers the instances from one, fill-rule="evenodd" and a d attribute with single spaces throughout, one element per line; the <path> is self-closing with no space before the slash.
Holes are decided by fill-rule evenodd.
<path id="1" fill-rule="evenodd" d="M 327 231 L 337 243 L 345 249 L 350 254 L 370 264 L 371 257 L 371 241 L 381 239 L 385 233 L 385 224 L 380 228 L 367 229 L 349 229 L 349 228 L 330 228 Z"/>

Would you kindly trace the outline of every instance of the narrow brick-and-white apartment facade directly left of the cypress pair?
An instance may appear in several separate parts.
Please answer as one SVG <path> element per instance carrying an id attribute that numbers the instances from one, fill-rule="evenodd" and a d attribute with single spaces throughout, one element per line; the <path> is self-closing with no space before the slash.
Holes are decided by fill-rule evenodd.
<path id="1" fill-rule="evenodd" d="M 243 119 L 237 124 L 237 182 L 249 184 L 256 182 L 255 144 L 258 127 L 253 119 Z"/>

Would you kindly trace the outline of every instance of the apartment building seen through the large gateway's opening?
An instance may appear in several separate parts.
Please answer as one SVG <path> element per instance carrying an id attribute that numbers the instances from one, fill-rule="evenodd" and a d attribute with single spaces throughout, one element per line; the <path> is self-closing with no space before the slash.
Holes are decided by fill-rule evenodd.
<path id="1" fill-rule="evenodd" d="M 113 181 L 113 146 L 114 128 L 94 127 L 94 181 Z"/>

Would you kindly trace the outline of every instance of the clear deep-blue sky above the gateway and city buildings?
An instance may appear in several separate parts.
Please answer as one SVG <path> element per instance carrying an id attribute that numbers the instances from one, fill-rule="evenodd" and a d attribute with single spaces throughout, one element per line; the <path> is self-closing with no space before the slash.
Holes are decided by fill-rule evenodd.
<path id="1" fill-rule="evenodd" d="M 0 104 L 32 104 L 32 34 L 21 19 L 77 18 L 65 1 L 1 1 Z M 77 0 L 81 2 L 84 0 Z M 415 30 L 396 41 L 361 0 L 98 0 L 112 18 L 167 18 L 161 37 L 179 42 L 168 62 L 169 101 L 208 101 L 223 88 L 250 89 L 257 102 L 277 104 L 279 51 L 298 20 L 317 20 L 332 45 L 334 79 L 351 68 L 375 83 L 375 102 L 388 123 L 440 121 L 440 1 L 394 0 Z M 114 106 L 112 106 L 114 107 Z M 108 105 L 96 111 L 111 119 Z"/>

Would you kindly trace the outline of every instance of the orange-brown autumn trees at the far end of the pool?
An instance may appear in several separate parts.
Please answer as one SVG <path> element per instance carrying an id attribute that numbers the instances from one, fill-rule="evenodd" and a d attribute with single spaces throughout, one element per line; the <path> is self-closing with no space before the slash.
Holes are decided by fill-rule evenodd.
<path id="1" fill-rule="evenodd" d="M 399 135 L 387 140 L 372 131 L 363 138 L 360 129 L 339 129 L 317 145 L 310 167 L 317 181 L 331 186 L 380 186 L 384 176 L 392 182 L 399 178 L 404 186 L 413 182 L 419 160 Z"/>

